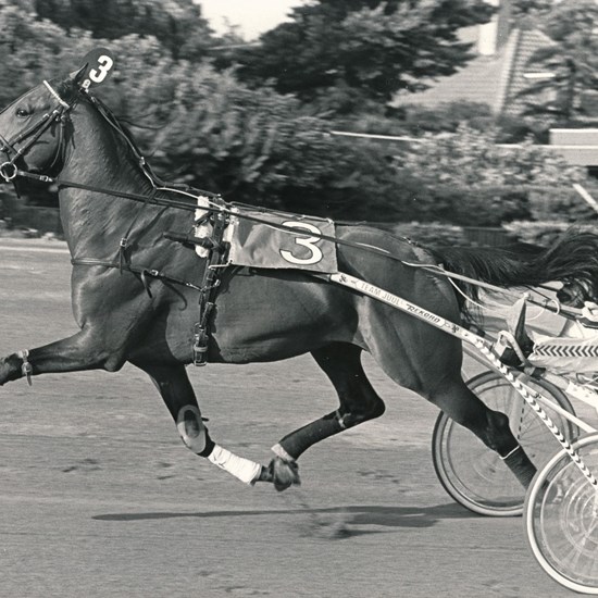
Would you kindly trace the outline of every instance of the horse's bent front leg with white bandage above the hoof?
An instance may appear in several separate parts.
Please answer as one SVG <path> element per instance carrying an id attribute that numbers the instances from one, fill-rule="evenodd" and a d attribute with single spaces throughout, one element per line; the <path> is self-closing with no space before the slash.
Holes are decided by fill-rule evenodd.
<path id="1" fill-rule="evenodd" d="M 196 395 L 183 364 L 155 365 L 134 362 L 149 374 L 169 409 L 185 446 L 245 484 L 270 482 L 267 470 L 239 457 L 212 440 L 199 410 Z"/>

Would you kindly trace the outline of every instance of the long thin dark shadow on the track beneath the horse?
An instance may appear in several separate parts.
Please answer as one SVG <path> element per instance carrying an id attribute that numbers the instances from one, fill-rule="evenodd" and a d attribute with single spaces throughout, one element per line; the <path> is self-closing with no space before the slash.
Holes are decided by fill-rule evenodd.
<path id="1" fill-rule="evenodd" d="M 271 510 L 247 510 L 247 511 L 195 511 L 195 512 L 139 512 L 139 513 L 107 513 L 95 515 L 97 521 L 148 521 L 166 520 L 176 518 L 253 518 L 253 516 L 276 516 L 298 515 L 309 516 L 314 524 L 323 521 L 323 525 L 331 525 L 331 521 L 337 520 L 342 525 L 350 526 L 347 535 L 356 536 L 361 534 L 381 533 L 384 528 L 391 527 L 432 527 L 440 520 L 470 519 L 476 518 L 475 513 L 468 511 L 457 503 L 436 504 L 434 507 L 385 507 L 376 504 L 344 506 L 322 509 L 299 507 L 296 509 L 271 509 Z M 375 526 L 376 530 L 364 530 Z M 360 530 L 361 528 L 361 530 Z M 388 530 L 387 530 L 388 531 Z"/>

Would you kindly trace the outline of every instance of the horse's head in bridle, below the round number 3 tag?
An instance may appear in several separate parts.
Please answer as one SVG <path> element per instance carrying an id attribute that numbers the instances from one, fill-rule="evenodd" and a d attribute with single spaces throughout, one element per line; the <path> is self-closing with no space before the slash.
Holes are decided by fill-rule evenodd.
<path id="1" fill-rule="evenodd" d="M 17 169 L 51 174 L 64 158 L 70 112 L 80 95 L 78 76 L 43 82 L 0 113 L 0 175 Z"/>

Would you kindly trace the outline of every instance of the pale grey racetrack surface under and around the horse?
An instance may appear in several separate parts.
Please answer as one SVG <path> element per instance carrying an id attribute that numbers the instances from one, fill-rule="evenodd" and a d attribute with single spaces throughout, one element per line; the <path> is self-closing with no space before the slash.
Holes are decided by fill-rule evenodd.
<path id="1" fill-rule="evenodd" d="M 74 333 L 63 246 L 0 239 L 0 354 Z M 521 519 L 451 501 L 432 468 L 435 408 L 367 371 L 385 416 L 311 449 L 283 494 L 194 457 L 132 366 L 0 388 L 0 597 L 572 595 Z M 336 407 L 309 357 L 190 375 L 212 436 L 264 463 Z"/>

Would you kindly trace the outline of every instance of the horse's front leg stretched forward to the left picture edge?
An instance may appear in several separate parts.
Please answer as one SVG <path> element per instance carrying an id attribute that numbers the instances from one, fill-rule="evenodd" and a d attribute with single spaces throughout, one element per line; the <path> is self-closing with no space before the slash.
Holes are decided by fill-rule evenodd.
<path id="1" fill-rule="evenodd" d="M 107 344 L 102 329 L 84 328 L 68 338 L 0 359 L 0 386 L 23 376 L 85 370 L 115 372 L 124 362 L 124 347 Z"/>

